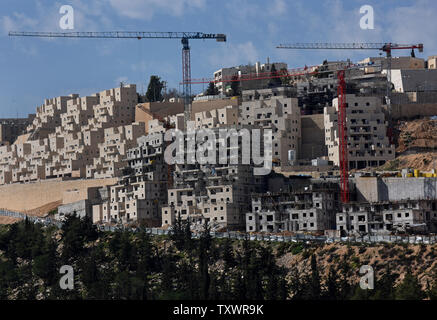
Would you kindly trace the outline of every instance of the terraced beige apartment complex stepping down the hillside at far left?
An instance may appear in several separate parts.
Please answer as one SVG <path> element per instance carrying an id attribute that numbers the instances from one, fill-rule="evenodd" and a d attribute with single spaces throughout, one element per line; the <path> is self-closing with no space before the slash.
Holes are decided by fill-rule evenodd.
<path id="1" fill-rule="evenodd" d="M 0 183 L 119 175 L 126 151 L 145 132 L 133 123 L 136 104 L 135 85 L 46 99 L 28 133 L 0 146 Z"/>

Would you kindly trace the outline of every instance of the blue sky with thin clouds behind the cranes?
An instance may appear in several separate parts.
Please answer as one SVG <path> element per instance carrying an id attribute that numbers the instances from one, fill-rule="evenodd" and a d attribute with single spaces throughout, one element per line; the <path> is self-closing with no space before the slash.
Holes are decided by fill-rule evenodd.
<path id="1" fill-rule="evenodd" d="M 226 43 L 191 41 L 192 77 L 220 67 L 283 61 L 289 67 L 324 59 L 375 56 L 373 51 L 293 51 L 286 42 L 424 43 L 437 54 L 435 0 L 1 0 L 0 118 L 35 112 L 44 98 L 92 94 L 157 74 L 179 89 L 181 44 L 173 40 L 10 38 L 9 31 L 61 32 L 59 9 L 71 5 L 72 31 L 199 31 L 225 33 Z M 361 30 L 359 9 L 372 5 L 375 29 Z M 409 54 L 409 52 L 403 52 Z M 202 85 L 193 86 L 198 93 Z"/>

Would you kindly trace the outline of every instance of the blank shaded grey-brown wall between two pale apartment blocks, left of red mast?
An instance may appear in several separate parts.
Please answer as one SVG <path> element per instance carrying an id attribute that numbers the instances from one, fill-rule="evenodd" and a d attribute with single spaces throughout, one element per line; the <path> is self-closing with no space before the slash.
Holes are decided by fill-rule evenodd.
<path id="1" fill-rule="evenodd" d="M 301 126 L 302 145 L 299 158 L 315 159 L 327 156 L 323 114 L 302 116 Z"/>

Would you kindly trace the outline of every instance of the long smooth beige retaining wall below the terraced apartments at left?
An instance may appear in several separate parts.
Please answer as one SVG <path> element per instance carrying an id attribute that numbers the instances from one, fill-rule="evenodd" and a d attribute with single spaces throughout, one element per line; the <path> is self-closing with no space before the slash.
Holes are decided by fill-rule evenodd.
<path id="1" fill-rule="evenodd" d="M 64 192 L 73 189 L 77 189 L 78 192 L 72 200 L 80 201 L 87 198 L 88 188 L 112 185 L 117 183 L 117 180 L 117 178 L 69 181 L 53 179 L 3 185 L 0 186 L 0 208 L 17 211 L 32 210 L 48 203 L 63 201 Z"/>

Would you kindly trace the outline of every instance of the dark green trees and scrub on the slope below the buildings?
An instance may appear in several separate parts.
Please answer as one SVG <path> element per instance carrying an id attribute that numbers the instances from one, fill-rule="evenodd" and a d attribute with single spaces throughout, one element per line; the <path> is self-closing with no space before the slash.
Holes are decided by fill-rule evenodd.
<path id="1" fill-rule="evenodd" d="M 391 256 L 389 249 L 380 251 Z M 0 299 L 437 299 L 437 273 L 423 290 L 411 272 L 402 280 L 392 272 L 398 262 L 374 264 L 375 289 L 362 290 L 357 279 L 365 257 L 353 247 L 344 255 L 322 250 L 214 239 L 207 226 L 193 239 L 180 218 L 163 237 L 100 232 L 74 215 L 60 230 L 22 221 L 0 228 Z M 320 264 L 323 256 L 329 265 Z M 280 262 L 290 257 L 306 267 Z M 59 287 L 63 265 L 74 269 L 73 290 Z"/>

